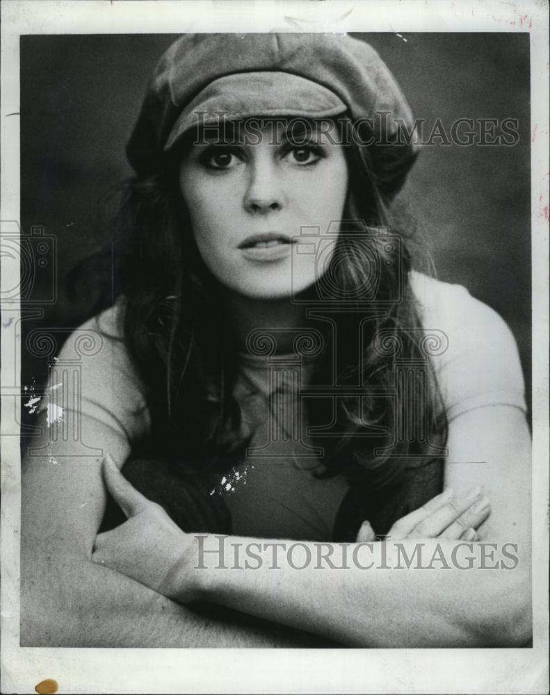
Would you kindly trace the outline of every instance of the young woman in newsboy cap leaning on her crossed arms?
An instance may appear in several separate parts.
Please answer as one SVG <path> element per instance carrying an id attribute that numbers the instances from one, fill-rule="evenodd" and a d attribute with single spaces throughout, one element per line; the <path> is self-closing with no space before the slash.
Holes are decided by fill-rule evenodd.
<path id="1" fill-rule="evenodd" d="M 186 35 L 161 58 L 127 149 L 116 301 L 81 327 L 102 336 L 82 438 L 107 455 L 75 465 L 56 441 L 54 466 L 27 461 L 22 644 L 528 641 L 517 348 L 411 268 L 389 215 L 411 124 L 345 36 Z M 464 571 L 464 541 L 512 544 L 513 571 Z M 421 546 L 426 570 L 400 567 Z"/>

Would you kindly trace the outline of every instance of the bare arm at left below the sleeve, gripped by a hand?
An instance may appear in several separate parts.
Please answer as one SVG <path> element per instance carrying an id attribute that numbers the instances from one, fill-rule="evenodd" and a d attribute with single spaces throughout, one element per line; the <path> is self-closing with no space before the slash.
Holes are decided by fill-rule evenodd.
<path id="1" fill-rule="evenodd" d="M 45 413 L 42 439 L 48 441 Z M 124 461 L 129 444 L 112 428 L 84 422 L 85 441 Z M 23 646 L 323 646 L 312 635 L 264 621 L 236 624 L 178 605 L 131 578 L 91 562 L 104 514 L 101 459 L 64 457 L 51 443 L 22 468 Z"/>

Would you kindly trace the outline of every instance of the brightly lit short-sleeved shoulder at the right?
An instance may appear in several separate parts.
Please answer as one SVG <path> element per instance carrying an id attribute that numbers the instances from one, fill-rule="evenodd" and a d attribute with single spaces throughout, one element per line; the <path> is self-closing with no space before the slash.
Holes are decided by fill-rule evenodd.
<path id="1" fill-rule="evenodd" d="M 496 404 L 526 411 L 517 343 L 494 309 L 461 285 L 410 273 L 423 329 L 442 341 L 432 362 L 449 419 Z"/>

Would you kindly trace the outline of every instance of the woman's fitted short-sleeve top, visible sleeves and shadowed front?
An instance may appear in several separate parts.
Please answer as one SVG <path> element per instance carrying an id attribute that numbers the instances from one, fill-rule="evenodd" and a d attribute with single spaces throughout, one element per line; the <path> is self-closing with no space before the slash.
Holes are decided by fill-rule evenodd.
<path id="1" fill-rule="evenodd" d="M 469 411 L 497 404 L 525 412 L 517 345 L 503 319 L 463 286 L 415 271 L 410 273 L 410 284 L 423 331 L 444 336 L 443 349 L 431 359 L 449 426 Z M 111 453 L 125 459 L 134 443 L 147 436 L 150 416 L 145 389 L 122 340 L 122 313 L 122 303 L 115 303 L 77 331 L 99 332 L 102 344 L 101 350 L 81 358 L 83 440 L 96 438 L 99 427 L 108 432 Z M 59 361 L 74 357 L 73 343 L 65 343 Z M 279 369 L 274 379 L 266 358 L 240 355 L 234 393 L 252 440 L 240 464 L 209 477 L 207 491 L 229 509 L 233 534 L 347 539 L 335 528 L 353 491 L 343 475 L 314 475 L 320 465 L 318 452 L 300 424 L 298 391 L 307 384 L 310 368 L 312 363 L 306 360 L 298 372 Z M 402 512 L 403 505 L 400 516 Z"/>

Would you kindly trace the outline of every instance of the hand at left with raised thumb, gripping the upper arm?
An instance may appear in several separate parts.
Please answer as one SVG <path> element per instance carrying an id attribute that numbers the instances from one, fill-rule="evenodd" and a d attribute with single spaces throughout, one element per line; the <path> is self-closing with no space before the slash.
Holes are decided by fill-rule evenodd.
<path id="1" fill-rule="evenodd" d="M 138 492 L 109 455 L 103 461 L 103 476 L 106 488 L 128 519 L 97 535 L 92 562 L 122 572 L 179 603 L 195 600 L 198 587 L 191 571 L 191 535 L 182 531 L 161 505 Z"/>

